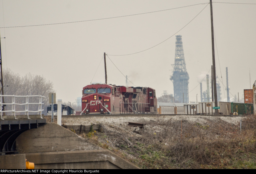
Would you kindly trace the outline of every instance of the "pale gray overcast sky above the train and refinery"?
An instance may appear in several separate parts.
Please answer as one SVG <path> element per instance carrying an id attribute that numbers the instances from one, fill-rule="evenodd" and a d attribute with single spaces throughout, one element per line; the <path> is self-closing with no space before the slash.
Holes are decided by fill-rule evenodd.
<path id="1" fill-rule="evenodd" d="M 212 5 L 217 44 L 216 73 L 219 77 L 222 74 L 226 86 L 228 67 L 230 92 L 233 95 L 239 92 L 242 98 L 243 90 L 250 88 L 249 69 L 251 85 L 256 80 L 256 5 L 231 3 L 256 4 L 256 1 L 218 2 L 229 3 L 213 1 Z M 158 97 L 163 90 L 173 94 L 173 83 L 169 78 L 175 57 L 175 33 L 199 14 L 207 5 L 205 3 L 209 1 L 2 0 L 0 31 L 1 38 L 6 37 L 1 39 L 3 67 L 21 76 L 29 72 L 43 75 L 54 83 L 58 99 L 74 102 L 81 97 L 82 88 L 90 84 L 106 52 L 134 85 L 154 88 Z M 194 6 L 177 8 L 188 5 Z M 86 22 L 3 28 L 102 19 L 171 8 L 177 9 Z M 177 34 L 182 35 L 190 92 L 212 65 L 210 5 Z M 147 51 L 110 56 L 140 52 L 172 35 Z M 108 83 L 125 85 L 125 77 L 108 57 L 107 74 Z M 104 82 L 102 60 L 92 83 Z M 206 82 L 203 82 L 204 90 Z M 221 92 L 222 99 L 227 97 L 222 84 Z M 196 94 L 200 102 L 200 85 L 189 93 L 189 101 L 196 101 Z"/>

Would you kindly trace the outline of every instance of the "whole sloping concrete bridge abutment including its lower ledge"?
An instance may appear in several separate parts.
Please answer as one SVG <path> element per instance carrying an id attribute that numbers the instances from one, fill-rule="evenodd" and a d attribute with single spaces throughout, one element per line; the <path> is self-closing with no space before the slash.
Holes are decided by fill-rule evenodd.
<path id="1" fill-rule="evenodd" d="M 22 133 L 16 139 L 16 147 L 35 163 L 35 169 L 138 168 L 55 123 Z"/>

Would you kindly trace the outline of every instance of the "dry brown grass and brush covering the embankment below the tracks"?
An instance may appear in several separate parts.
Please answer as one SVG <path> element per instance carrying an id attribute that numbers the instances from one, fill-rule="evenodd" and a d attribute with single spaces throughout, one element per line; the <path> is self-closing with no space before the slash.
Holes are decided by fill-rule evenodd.
<path id="1" fill-rule="evenodd" d="M 232 119 L 232 118 L 231 118 Z M 256 168 L 256 116 L 239 124 L 205 119 L 204 123 L 144 121 L 134 134 L 116 133 L 103 126 L 89 140 L 141 168 Z M 97 138 L 95 138 L 97 137 Z"/>

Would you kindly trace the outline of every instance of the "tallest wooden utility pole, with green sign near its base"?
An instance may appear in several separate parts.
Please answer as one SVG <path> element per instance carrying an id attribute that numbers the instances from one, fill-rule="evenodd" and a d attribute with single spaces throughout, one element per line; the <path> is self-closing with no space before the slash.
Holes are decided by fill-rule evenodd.
<path id="1" fill-rule="evenodd" d="M 211 9 L 211 47 L 212 47 L 212 75 L 213 75 L 213 88 L 214 88 L 214 103 L 215 107 L 218 106 L 217 88 L 216 88 L 216 67 L 215 67 L 215 53 L 214 53 L 214 30 L 213 30 L 213 15 L 212 15 L 212 2 L 210 0 Z M 215 109 L 215 115 L 219 114 L 219 110 Z"/>

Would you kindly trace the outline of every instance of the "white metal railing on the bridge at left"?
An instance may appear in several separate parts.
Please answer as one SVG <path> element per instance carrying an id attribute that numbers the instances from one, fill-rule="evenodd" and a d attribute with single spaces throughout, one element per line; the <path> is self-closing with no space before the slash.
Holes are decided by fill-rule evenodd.
<path id="1" fill-rule="evenodd" d="M 6 98 L 6 97 L 12 97 L 12 103 L 2 103 L 2 97 L 4 97 L 4 98 Z M 15 98 L 18 98 L 18 97 L 20 97 L 20 98 L 26 98 L 26 102 L 25 103 L 16 103 L 15 102 Z M 38 103 L 29 103 L 29 97 L 36 97 L 36 98 L 38 98 Z M 25 112 L 25 115 L 27 114 L 27 116 L 28 116 L 28 119 L 30 119 L 29 118 L 29 112 L 33 112 L 33 113 L 40 113 L 40 118 L 43 118 L 42 117 L 42 111 L 44 110 L 44 109 L 42 109 L 42 105 L 44 104 L 44 103 L 42 103 L 42 98 L 44 98 L 44 96 L 41 96 L 41 95 L 25 95 L 25 96 L 21 96 L 21 95 L 0 95 L 0 113 L 1 113 L 1 119 L 2 120 L 4 120 L 3 119 L 3 113 L 7 113 L 7 112 L 12 112 L 13 114 L 14 114 L 14 119 L 17 119 L 16 118 L 16 113 L 21 113 L 21 112 Z M 3 107 L 3 105 L 12 105 L 12 109 L 11 110 L 2 110 L 2 107 Z M 16 111 L 16 109 L 15 109 L 15 106 L 16 105 L 25 105 L 25 110 L 19 110 L 19 111 Z M 29 106 L 31 106 L 31 105 L 38 105 L 38 110 L 29 110 Z M 7 107 L 6 107 L 7 108 Z"/>

